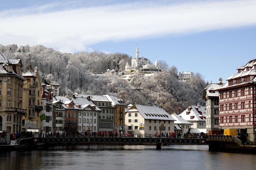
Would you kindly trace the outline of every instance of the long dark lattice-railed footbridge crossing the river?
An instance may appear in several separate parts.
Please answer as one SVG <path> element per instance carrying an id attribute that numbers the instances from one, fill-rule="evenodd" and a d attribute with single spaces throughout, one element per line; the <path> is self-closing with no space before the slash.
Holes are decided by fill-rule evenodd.
<path id="1" fill-rule="evenodd" d="M 36 144 L 156 144 L 161 149 L 162 144 L 205 144 L 202 138 L 157 138 L 157 137 L 36 137 Z"/>

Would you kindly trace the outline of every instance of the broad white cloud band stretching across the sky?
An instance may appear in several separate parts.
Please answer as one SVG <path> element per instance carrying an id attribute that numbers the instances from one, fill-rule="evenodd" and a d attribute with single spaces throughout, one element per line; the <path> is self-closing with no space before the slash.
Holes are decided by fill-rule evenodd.
<path id="1" fill-rule="evenodd" d="M 2 11 L 0 43 L 42 44 L 62 52 L 75 52 L 88 50 L 87 46 L 102 41 L 180 35 L 256 24 L 256 1 L 253 0 L 182 2 L 144 1 L 35 14 L 19 9 L 16 10 L 19 16 L 11 15 L 14 10 Z M 38 9 L 45 7 L 47 5 Z"/>

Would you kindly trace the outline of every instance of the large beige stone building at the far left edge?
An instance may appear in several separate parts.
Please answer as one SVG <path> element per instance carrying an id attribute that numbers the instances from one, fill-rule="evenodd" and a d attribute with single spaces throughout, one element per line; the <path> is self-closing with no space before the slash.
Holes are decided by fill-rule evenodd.
<path id="1" fill-rule="evenodd" d="M 21 131 L 22 109 L 22 63 L 20 59 L 7 59 L 0 51 L 0 130 L 11 133 Z"/>

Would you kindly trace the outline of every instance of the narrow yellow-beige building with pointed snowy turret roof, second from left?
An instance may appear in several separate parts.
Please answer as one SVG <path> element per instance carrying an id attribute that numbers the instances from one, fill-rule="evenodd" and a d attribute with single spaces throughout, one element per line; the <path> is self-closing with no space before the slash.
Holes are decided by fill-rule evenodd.
<path id="1" fill-rule="evenodd" d="M 22 75 L 26 81 L 23 85 L 23 109 L 27 109 L 27 115 L 22 118 L 22 130 L 39 132 L 41 130 L 40 115 L 43 110 L 41 102 L 41 82 L 38 68 L 33 72 L 31 65 Z"/>

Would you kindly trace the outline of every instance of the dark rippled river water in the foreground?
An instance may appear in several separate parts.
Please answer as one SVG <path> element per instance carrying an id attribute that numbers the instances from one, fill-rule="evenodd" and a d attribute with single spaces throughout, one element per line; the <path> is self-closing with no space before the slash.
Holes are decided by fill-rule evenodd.
<path id="1" fill-rule="evenodd" d="M 57 146 L 49 150 L 0 151 L 0 169 L 239 169 L 256 168 L 256 155 L 209 152 L 208 145 Z"/>

